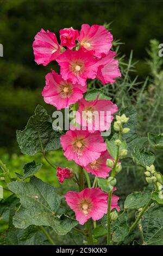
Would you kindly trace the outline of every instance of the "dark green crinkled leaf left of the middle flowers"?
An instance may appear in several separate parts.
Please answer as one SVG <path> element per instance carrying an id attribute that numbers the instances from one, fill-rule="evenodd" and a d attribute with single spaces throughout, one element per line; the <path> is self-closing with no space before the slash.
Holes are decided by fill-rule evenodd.
<path id="1" fill-rule="evenodd" d="M 26 129 L 17 131 L 17 142 L 21 152 L 31 156 L 60 148 L 60 135 L 52 129 L 52 118 L 45 108 L 36 107 Z"/>

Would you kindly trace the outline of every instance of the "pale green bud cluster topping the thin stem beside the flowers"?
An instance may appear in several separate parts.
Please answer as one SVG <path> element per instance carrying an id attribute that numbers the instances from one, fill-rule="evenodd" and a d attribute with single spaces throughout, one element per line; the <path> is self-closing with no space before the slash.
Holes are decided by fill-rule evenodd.
<path id="1" fill-rule="evenodd" d="M 130 131 L 129 128 L 123 128 L 123 124 L 128 122 L 129 118 L 126 117 L 126 114 L 116 115 L 116 121 L 114 122 L 114 130 L 115 131 L 122 131 L 123 134 L 126 134 Z"/>

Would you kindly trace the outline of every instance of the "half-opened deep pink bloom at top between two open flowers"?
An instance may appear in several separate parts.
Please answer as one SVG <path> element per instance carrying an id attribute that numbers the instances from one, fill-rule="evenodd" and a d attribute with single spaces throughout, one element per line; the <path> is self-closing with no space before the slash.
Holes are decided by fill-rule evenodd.
<path id="1" fill-rule="evenodd" d="M 79 36 L 78 30 L 73 28 L 60 29 L 60 40 L 61 46 L 67 46 L 68 49 L 72 50 L 76 46 L 76 39 Z"/>

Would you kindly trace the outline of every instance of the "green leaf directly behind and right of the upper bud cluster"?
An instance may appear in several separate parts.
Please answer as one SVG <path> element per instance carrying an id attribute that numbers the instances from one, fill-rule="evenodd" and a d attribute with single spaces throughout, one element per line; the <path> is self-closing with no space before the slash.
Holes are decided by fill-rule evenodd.
<path id="1" fill-rule="evenodd" d="M 120 115 L 126 114 L 126 117 L 129 117 L 129 120 L 123 127 L 130 128 L 129 133 L 124 134 L 122 139 L 126 139 L 128 157 L 131 157 L 131 151 L 133 151 L 135 145 L 137 148 L 142 149 L 144 144 L 148 141 L 147 137 L 141 137 L 137 135 L 137 113 L 134 106 L 126 107 L 122 109 Z"/>

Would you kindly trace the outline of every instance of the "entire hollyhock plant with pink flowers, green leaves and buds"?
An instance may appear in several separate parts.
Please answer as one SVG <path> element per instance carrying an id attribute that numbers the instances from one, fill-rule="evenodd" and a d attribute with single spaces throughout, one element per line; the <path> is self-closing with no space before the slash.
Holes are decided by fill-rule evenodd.
<path id="1" fill-rule="evenodd" d="M 80 32 L 61 29 L 60 44 L 53 32 L 41 29 L 36 34 L 35 62 L 46 66 L 55 60 L 60 66 L 60 74 L 51 70 L 46 75 L 43 99 L 58 111 L 73 109 L 73 122 L 67 131 L 60 127 L 53 130 L 51 116 L 45 108 L 37 106 L 26 128 L 17 131 L 17 142 L 22 154 L 42 154 L 63 191 L 67 189 L 65 180 L 74 184 L 74 190 L 68 190 L 62 197 L 57 188 L 38 179 L 35 174 L 42 163 L 26 163 L 23 174 L 16 173 L 15 178 L 0 162 L 3 187 L 12 193 L 0 203 L 0 210 L 8 202 L 12 207 L 9 229 L 0 235 L 1 243 L 10 243 L 11 233 L 17 234 L 22 244 L 28 235 L 30 244 L 36 244 L 34 234 L 41 244 L 56 245 L 56 237 L 68 233 L 73 239 L 74 233 L 80 234 L 84 245 L 158 243 L 158 231 L 162 232 L 163 179 L 153 165 L 154 154 L 143 146 L 149 139 L 153 148 L 162 150 L 162 133 L 148 135 L 148 139 L 141 137 L 135 128 L 135 108 L 118 109 L 109 95 L 105 95 L 106 88 L 118 86 L 118 77 L 122 85 L 129 83 L 127 76 L 120 78 L 112 40 L 112 34 L 104 26 L 87 24 L 82 25 Z M 89 86 L 87 79 L 92 80 Z M 91 88 L 91 84 L 97 84 L 97 88 Z M 108 130 L 111 130 L 109 135 L 105 133 Z M 57 149 L 62 150 L 68 161 L 74 161 L 77 168 L 53 163 L 47 153 Z M 145 171 L 146 187 L 142 192 L 129 194 L 120 205 L 116 195 L 117 177 L 123 175 L 126 159 L 133 160 L 133 164 Z M 135 217 L 130 220 L 129 213 L 133 210 Z M 162 239 L 159 241 L 163 244 Z"/>

